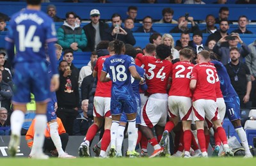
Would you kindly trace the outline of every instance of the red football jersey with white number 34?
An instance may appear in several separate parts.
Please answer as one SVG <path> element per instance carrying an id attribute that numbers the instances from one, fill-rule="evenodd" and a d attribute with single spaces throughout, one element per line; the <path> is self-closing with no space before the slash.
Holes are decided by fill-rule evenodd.
<path id="1" fill-rule="evenodd" d="M 172 63 L 167 60 L 161 61 L 161 59 L 152 56 L 143 56 L 142 54 L 138 54 L 137 58 L 145 65 L 147 92 L 149 94 L 166 93 Z"/>

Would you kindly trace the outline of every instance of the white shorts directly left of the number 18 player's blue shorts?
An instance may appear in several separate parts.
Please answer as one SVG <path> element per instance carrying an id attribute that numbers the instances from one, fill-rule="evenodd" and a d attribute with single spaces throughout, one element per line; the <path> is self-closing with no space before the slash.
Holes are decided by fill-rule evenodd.
<path id="1" fill-rule="evenodd" d="M 110 100 L 111 98 L 95 96 L 93 98 L 93 116 L 111 117 Z"/>

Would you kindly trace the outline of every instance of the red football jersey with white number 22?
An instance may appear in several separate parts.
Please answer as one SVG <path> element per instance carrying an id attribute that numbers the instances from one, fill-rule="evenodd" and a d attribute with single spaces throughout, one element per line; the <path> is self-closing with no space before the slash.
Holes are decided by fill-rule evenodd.
<path id="1" fill-rule="evenodd" d="M 194 64 L 189 61 L 180 61 L 173 64 L 171 73 L 172 86 L 169 96 L 192 96 L 189 83 L 193 66 Z"/>

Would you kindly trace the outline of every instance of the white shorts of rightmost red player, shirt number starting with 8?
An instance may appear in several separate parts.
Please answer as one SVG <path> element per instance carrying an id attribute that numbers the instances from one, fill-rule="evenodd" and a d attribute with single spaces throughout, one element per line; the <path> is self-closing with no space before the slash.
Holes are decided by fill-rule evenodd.
<path id="1" fill-rule="evenodd" d="M 220 119 L 217 104 L 214 100 L 199 99 L 193 102 L 193 112 L 195 121 L 204 121 L 205 118 L 210 121 Z"/>

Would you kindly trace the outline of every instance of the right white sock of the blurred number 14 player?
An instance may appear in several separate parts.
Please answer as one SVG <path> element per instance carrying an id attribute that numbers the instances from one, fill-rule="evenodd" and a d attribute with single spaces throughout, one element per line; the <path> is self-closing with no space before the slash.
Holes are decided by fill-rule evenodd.
<path id="1" fill-rule="evenodd" d="M 44 146 L 44 132 L 46 128 L 47 118 L 45 114 L 37 114 L 35 117 L 35 135 L 33 146 L 31 149 L 31 155 L 35 153 L 43 153 L 43 146 Z"/>

